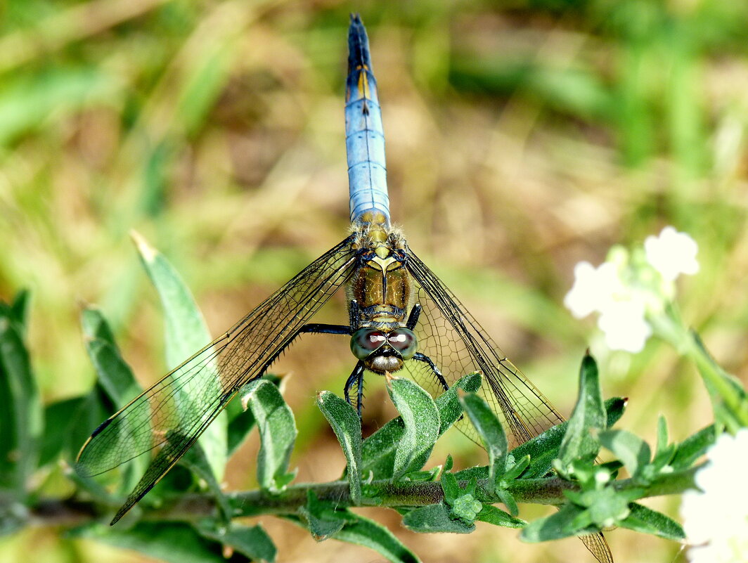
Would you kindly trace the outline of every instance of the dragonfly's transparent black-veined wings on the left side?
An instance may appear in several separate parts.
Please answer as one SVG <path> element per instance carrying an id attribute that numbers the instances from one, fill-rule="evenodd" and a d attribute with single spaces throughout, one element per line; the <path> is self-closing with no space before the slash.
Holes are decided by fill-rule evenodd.
<path id="1" fill-rule="evenodd" d="M 350 241 L 328 250 L 227 333 L 96 428 L 78 456 L 76 470 L 83 476 L 156 451 L 114 521 L 177 463 L 236 392 L 262 375 L 304 322 L 348 280 L 356 263 Z"/>

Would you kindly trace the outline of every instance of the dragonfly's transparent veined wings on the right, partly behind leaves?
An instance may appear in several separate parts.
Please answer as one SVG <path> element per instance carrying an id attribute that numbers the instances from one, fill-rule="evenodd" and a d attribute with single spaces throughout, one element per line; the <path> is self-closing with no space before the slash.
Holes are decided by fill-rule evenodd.
<path id="1" fill-rule="evenodd" d="M 453 292 L 411 250 L 406 264 L 417 283 L 416 301 L 422 307 L 415 328 L 419 351 L 434 361 L 448 384 L 470 372 L 482 372 L 485 381 L 480 394 L 503 422 L 509 448 L 563 422 L 551 402 L 507 359 Z M 442 392 L 425 363 L 411 360 L 405 369 L 435 396 Z M 467 421 L 459 422 L 457 427 L 480 444 Z M 613 563 L 602 532 L 580 536 L 580 540 L 598 562 Z"/>

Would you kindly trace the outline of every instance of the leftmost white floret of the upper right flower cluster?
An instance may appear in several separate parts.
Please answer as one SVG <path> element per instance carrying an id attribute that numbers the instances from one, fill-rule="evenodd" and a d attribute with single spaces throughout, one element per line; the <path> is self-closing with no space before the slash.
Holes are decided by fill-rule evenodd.
<path id="1" fill-rule="evenodd" d="M 616 265 L 603 262 L 595 268 L 589 262 L 579 262 L 574 266 L 574 286 L 563 303 L 572 315 L 581 319 L 607 307 L 621 288 Z"/>

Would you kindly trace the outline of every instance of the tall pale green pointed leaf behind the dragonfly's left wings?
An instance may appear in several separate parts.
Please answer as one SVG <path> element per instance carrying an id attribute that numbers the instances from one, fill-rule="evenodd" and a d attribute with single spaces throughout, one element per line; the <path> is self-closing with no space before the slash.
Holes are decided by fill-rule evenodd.
<path id="1" fill-rule="evenodd" d="M 172 377 L 177 378 L 178 366 L 209 345 L 212 339 L 200 310 L 197 309 L 192 295 L 177 271 L 138 233 L 133 231 L 132 238 L 138 247 L 144 268 L 156 291 L 159 292 L 165 314 L 166 362 L 170 369 L 176 369 Z M 184 381 L 176 393 L 180 393 L 180 400 L 177 403 L 187 411 L 182 413 L 185 419 L 189 419 L 191 413 L 200 408 L 194 401 L 202 400 L 206 393 L 206 385 L 212 384 L 215 387 L 215 396 L 221 396 L 223 393 L 217 366 L 212 363 L 202 368 L 200 377 L 184 378 Z M 223 479 L 227 461 L 227 424 L 226 413 L 220 413 L 197 441 L 208 458 L 215 479 L 219 482 Z"/>

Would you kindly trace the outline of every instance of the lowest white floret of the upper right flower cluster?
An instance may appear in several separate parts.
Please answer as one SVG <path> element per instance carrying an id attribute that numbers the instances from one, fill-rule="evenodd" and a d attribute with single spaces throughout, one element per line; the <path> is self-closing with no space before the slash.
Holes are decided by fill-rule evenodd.
<path id="1" fill-rule="evenodd" d="M 644 320 L 644 304 L 639 301 L 612 301 L 598 319 L 598 327 L 605 333 L 611 350 L 631 353 L 642 351 L 652 336 L 652 327 Z"/>

